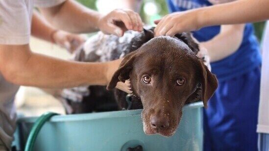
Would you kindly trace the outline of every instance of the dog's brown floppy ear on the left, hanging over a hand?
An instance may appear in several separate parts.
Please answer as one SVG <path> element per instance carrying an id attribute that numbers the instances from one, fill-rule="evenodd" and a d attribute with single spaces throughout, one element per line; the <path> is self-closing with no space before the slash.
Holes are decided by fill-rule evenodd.
<path id="1" fill-rule="evenodd" d="M 133 61 L 136 57 L 136 54 L 137 52 L 133 51 L 124 57 L 118 70 L 114 73 L 111 78 L 111 81 L 108 83 L 106 87 L 107 90 L 111 90 L 116 87 L 119 81 L 124 83 L 125 80 L 129 79 L 129 73 L 133 68 Z"/>

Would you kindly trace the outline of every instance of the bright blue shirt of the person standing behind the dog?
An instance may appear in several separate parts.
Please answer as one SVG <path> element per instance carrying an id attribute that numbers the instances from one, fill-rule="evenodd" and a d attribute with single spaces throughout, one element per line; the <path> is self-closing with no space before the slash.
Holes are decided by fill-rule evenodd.
<path id="1" fill-rule="evenodd" d="M 167 1 L 170 12 L 185 11 L 212 5 L 208 0 Z M 200 30 L 193 32 L 193 34 L 199 42 L 204 42 L 212 39 L 219 34 L 219 32 L 220 26 L 210 26 L 201 28 Z M 244 38 L 239 49 L 230 56 L 211 63 L 212 72 L 217 75 L 219 81 L 245 74 L 259 65 L 261 65 L 259 43 L 254 35 L 253 26 L 250 23 L 245 25 Z"/>

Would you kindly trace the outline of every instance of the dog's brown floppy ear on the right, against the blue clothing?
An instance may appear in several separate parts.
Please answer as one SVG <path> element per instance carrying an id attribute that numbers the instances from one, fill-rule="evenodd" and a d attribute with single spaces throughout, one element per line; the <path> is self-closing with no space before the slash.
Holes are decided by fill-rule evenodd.
<path id="1" fill-rule="evenodd" d="M 199 60 L 199 68 L 200 72 L 198 73 L 200 74 L 198 76 L 200 77 L 199 79 L 202 88 L 201 99 L 203 100 L 204 107 L 207 108 L 208 100 L 218 87 L 218 80 L 216 75 L 211 73 L 201 60 Z"/>

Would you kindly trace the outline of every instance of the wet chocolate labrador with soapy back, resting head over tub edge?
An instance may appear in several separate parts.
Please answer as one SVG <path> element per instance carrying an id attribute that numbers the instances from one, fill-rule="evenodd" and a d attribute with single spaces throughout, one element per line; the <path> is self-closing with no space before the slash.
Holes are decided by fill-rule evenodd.
<path id="1" fill-rule="evenodd" d="M 150 28 L 124 36 L 98 33 L 77 51 L 74 60 L 104 62 L 124 56 L 107 89 L 114 89 L 119 81 L 130 80 L 133 93 L 129 108 L 143 108 L 145 133 L 171 136 L 178 127 L 184 105 L 202 100 L 207 107 L 217 89 L 217 78 L 197 56 L 199 46 L 190 33 L 154 37 Z M 98 100 L 105 100 L 102 105 L 116 101 L 119 109 L 128 108 L 127 94 L 118 89 L 114 89 L 113 95 L 102 86 L 89 86 L 66 89 L 62 95 L 72 110 L 70 113 L 93 111 Z M 110 106 L 110 109 L 116 108 Z"/>

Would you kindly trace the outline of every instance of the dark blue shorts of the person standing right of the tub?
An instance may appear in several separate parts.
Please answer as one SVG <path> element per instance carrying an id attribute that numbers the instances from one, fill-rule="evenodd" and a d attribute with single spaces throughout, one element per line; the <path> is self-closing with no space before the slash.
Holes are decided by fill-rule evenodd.
<path id="1" fill-rule="evenodd" d="M 260 67 L 219 82 L 204 109 L 204 151 L 257 151 Z"/>

